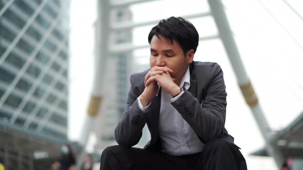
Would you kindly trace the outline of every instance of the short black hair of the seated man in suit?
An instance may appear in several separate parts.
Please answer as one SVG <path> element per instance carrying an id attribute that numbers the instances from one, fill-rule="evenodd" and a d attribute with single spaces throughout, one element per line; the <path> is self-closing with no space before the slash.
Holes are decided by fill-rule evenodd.
<path id="1" fill-rule="evenodd" d="M 188 50 L 193 49 L 194 53 L 197 50 L 199 43 L 199 34 L 194 25 L 182 17 L 169 17 L 160 20 L 159 24 L 153 27 L 148 34 L 148 43 L 150 44 L 151 38 L 159 35 L 168 38 L 172 41 L 177 40 L 184 56 Z"/>

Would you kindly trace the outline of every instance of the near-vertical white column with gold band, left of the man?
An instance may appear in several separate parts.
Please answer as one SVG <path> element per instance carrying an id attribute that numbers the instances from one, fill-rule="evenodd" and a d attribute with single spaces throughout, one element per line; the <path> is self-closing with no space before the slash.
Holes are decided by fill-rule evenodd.
<path id="1" fill-rule="evenodd" d="M 98 18 L 96 23 L 96 46 L 94 60 L 94 77 L 92 92 L 89 101 L 87 115 L 82 128 L 80 143 L 83 145 L 83 152 L 80 155 L 77 163 L 77 169 L 84 160 L 85 147 L 88 142 L 89 133 L 94 126 L 94 120 L 98 116 L 102 103 L 102 89 L 104 87 L 104 77 L 106 75 L 106 58 L 108 56 L 108 35 L 109 35 L 109 2 L 108 0 L 98 1 Z"/>

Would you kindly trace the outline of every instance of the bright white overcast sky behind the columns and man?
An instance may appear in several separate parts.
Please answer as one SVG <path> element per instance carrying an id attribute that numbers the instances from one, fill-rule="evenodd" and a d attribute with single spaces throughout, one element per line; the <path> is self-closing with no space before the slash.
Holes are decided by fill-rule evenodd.
<path id="1" fill-rule="evenodd" d="M 96 0 L 71 1 L 69 138 L 78 140 L 93 77 L 93 22 Z M 264 115 L 274 131 L 288 125 L 303 110 L 303 21 L 283 1 L 225 0 L 225 12 Z M 289 3 L 299 12 L 303 3 Z M 269 14 L 267 9 L 272 12 Z M 206 1 L 165 0 L 130 7 L 134 22 L 209 11 Z M 302 16 L 303 13 L 300 13 Z M 278 19 L 276 22 L 274 18 Z M 190 19 L 199 35 L 213 35 L 212 17 Z M 133 31 L 135 45 L 147 44 L 151 26 Z M 291 38 L 292 36 L 293 38 Z M 148 63 L 149 49 L 134 52 L 138 64 Z M 242 148 L 250 169 L 275 169 L 271 158 L 248 156 L 263 146 L 253 114 L 238 88 L 235 73 L 220 39 L 200 41 L 195 60 L 219 63 L 228 93 L 225 127 Z"/>

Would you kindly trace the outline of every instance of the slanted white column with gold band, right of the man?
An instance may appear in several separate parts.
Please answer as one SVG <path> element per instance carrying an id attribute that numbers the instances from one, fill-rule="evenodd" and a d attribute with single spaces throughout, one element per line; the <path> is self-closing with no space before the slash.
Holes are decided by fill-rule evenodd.
<path id="1" fill-rule="evenodd" d="M 211 12 L 214 16 L 224 48 L 229 56 L 232 67 L 236 74 L 242 94 L 247 104 L 251 108 L 253 116 L 260 128 L 261 134 L 266 142 L 267 152 L 274 158 L 277 166 L 279 167 L 282 165 L 282 162 L 284 160 L 283 155 L 281 151 L 270 141 L 272 135 L 271 128 L 266 117 L 263 114 L 250 79 L 244 69 L 231 28 L 223 9 L 223 5 L 220 0 L 208 0 L 208 2 L 210 4 Z"/>

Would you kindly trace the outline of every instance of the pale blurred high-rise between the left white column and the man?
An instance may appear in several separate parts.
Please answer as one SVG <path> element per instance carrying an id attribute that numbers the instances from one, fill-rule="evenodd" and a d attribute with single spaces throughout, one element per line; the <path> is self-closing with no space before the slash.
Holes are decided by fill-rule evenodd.
<path id="1" fill-rule="evenodd" d="M 110 11 L 110 24 L 131 22 L 132 14 L 128 7 L 114 8 Z M 102 24 L 101 24 L 102 27 Z M 131 44 L 132 30 L 112 31 L 109 35 L 109 48 Z M 107 73 L 104 80 L 108 86 L 103 94 L 101 114 L 98 116 L 94 131 L 97 135 L 96 150 L 103 150 L 106 146 L 116 143 L 113 133 L 126 107 L 126 98 L 129 90 L 129 75 L 132 72 L 132 54 L 109 53 L 106 59 Z"/>

